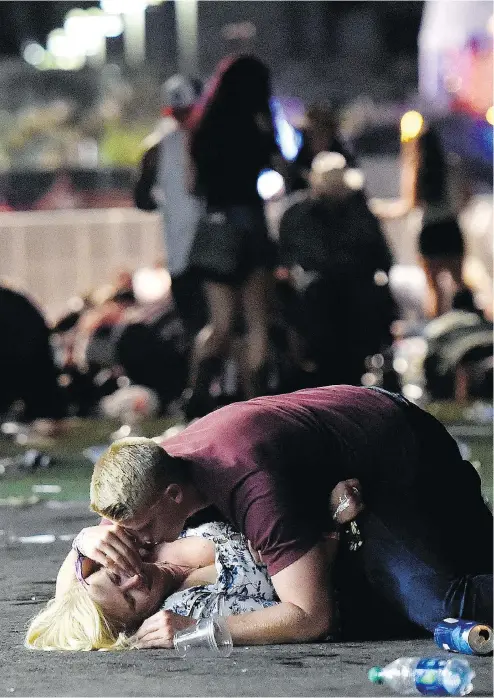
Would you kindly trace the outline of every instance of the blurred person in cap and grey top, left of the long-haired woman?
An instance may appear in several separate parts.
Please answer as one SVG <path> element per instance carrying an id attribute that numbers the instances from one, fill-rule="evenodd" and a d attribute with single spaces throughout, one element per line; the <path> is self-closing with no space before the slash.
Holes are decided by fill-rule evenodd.
<path id="1" fill-rule="evenodd" d="M 198 81 L 174 75 L 163 85 L 164 120 L 160 138 L 144 154 L 134 189 L 138 208 L 163 216 L 171 289 L 187 337 L 207 320 L 201 282 L 188 266 L 188 256 L 201 215 L 201 202 L 190 193 L 186 122 L 199 97 Z"/>

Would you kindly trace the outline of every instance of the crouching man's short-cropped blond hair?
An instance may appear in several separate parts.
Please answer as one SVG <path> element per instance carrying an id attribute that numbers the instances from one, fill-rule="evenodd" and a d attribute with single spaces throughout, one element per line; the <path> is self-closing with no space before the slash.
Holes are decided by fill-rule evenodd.
<path id="1" fill-rule="evenodd" d="M 94 466 L 91 509 L 114 521 L 133 518 L 169 484 L 174 460 L 152 439 L 115 441 Z"/>

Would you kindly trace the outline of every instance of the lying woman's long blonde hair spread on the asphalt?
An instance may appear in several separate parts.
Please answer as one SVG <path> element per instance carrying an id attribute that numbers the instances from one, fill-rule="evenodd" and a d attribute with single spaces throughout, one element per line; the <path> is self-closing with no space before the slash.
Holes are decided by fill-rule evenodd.
<path id="1" fill-rule="evenodd" d="M 105 618 L 82 584 L 74 584 L 31 621 L 24 645 L 36 650 L 120 650 L 129 638 Z"/>

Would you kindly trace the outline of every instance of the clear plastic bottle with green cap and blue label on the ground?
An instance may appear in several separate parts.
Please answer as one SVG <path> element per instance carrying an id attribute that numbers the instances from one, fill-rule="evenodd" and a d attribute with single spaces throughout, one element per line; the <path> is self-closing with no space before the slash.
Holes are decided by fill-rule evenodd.
<path id="1" fill-rule="evenodd" d="M 475 672 L 459 657 L 400 657 L 385 667 L 372 667 L 369 680 L 402 696 L 466 696 Z"/>

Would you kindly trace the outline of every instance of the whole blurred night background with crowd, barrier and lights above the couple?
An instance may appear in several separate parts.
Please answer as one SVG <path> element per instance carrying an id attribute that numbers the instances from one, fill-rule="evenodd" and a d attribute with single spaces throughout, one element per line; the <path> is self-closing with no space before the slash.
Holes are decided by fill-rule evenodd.
<path id="1" fill-rule="evenodd" d="M 492 42 L 487 0 L 0 2 L 3 423 L 490 419 Z"/>

